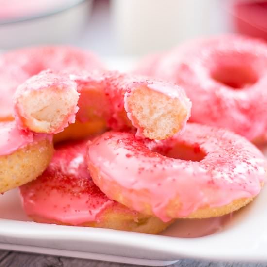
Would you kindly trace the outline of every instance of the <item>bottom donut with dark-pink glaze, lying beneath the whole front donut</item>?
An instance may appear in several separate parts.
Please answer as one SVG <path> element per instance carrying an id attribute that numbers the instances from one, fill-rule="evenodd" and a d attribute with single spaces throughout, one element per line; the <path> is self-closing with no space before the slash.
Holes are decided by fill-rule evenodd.
<path id="1" fill-rule="evenodd" d="M 93 183 L 85 161 L 86 140 L 56 146 L 45 172 L 20 187 L 26 214 L 35 222 L 111 228 L 156 234 L 165 229 L 156 217 L 108 199 Z"/>

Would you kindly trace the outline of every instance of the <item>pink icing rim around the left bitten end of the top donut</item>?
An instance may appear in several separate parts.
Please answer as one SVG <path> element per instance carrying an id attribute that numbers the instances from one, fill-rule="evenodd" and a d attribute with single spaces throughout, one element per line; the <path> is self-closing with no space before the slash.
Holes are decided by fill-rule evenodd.
<path id="1" fill-rule="evenodd" d="M 47 93 L 49 94 L 51 90 L 58 91 L 60 93 L 62 93 L 62 91 L 71 92 L 73 98 L 77 98 L 78 101 L 76 83 L 71 81 L 68 75 L 58 74 L 51 70 L 44 70 L 39 74 L 29 78 L 27 81 L 17 87 L 17 91 L 14 95 L 14 115 L 17 121 L 17 125 L 21 129 L 27 130 L 28 127 L 24 124 L 24 121 L 32 119 L 28 116 L 29 111 L 25 110 L 26 107 L 24 107 L 21 103 L 21 98 L 27 98 L 27 96 L 32 97 L 31 94 L 33 94 L 34 91 L 36 93 L 40 91 L 47 91 Z M 30 99 L 28 101 L 30 101 Z M 61 125 L 59 125 L 59 127 L 50 134 L 62 132 L 64 128 L 69 125 L 69 123 L 74 123 L 75 115 L 78 109 L 79 108 L 76 105 L 73 105 L 72 107 L 69 106 L 69 113 L 64 118 L 62 118 Z"/>

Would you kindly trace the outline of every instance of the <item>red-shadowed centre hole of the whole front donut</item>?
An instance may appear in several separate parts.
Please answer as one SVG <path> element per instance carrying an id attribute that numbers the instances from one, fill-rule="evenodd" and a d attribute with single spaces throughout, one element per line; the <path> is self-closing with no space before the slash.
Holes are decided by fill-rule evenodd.
<path id="1" fill-rule="evenodd" d="M 154 152 L 157 152 L 168 158 L 187 161 L 201 161 L 207 155 L 203 150 L 201 150 L 198 144 L 176 144 L 171 147 L 155 148 Z"/>

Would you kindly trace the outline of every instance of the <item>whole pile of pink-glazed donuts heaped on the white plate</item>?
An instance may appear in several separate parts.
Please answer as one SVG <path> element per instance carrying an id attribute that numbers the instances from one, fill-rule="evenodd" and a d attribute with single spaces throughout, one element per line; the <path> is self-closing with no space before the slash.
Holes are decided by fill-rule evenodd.
<path id="1" fill-rule="evenodd" d="M 231 49 L 242 53 L 247 46 L 239 47 L 241 39 L 201 41 L 198 47 L 210 51 L 214 43 L 222 43 L 225 53 Z M 264 54 L 264 45 L 259 46 L 255 58 Z M 217 79 L 213 83 L 228 79 L 218 92 L 235 92 L 233 86 L 242 83 L 243 99 L 251 86 L 260 91 L 260 83 L 247 76 L 246 82 L 242 77 L 221 77 L 215 62 L 215 76 L 200 83 L 193 70 L 202 77 L 202 50 L 188 52 L 188 57 L 184 51 L 182 47 L 150 57 L 137 71 L 147 76 L 106 70 L 93 55 L 66 47 L 3 55 L 0 63 L 7 67 L 0 69 L 0 84 L 5 85 L 0 87 L 5 92 L 2 102 L 12 104 L 0 112 L 6 114 L 0 118 L 0 193 L 19 186 L 24 210 L 36 222 L 151 234 L 176 218 L 218 217 L 253 200 L 266 178 L 267 161 L 261 151 L 229 130 L 187 121 L 191 106 L 192 113 L 202 111 L 203 123 L 208 107 L 221 109 L 221 102 L 210 102 L 209 92 L 216 90 L 210 89 L 212 79 Z M 210 62 L 207 52 L 202 56 Z M 184 66 L 181 75 L 171 67 L 170 58 L 179 69 Z M 217 60 L 222 68 L 231 63 L 224 62 L 221 52 Z M 257 59 L 253 64 L 260 65 Z M 229 92 L 227 97 L 234 98 Z M 235 98 L 229 106 L 239 103 Z M 233 113 L 234 118 L 239 116 L 236 110 Z M 250 140 L 262 136 L 257 132 Z"/>

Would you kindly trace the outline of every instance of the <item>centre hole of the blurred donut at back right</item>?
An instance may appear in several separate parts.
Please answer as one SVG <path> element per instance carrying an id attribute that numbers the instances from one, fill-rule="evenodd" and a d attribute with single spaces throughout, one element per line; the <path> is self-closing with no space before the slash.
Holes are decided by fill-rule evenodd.
<path id="1" fill-rule="evenodd" d="M 249 87 L 258 81 L 255 71 L 250 66 L 220 66 L 211 73 L 211 77 L 231 89 Z"/>

